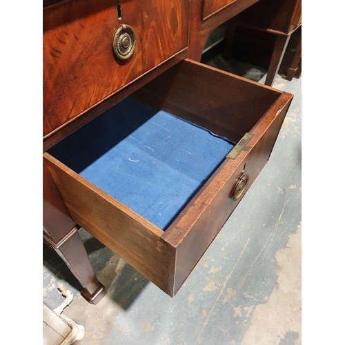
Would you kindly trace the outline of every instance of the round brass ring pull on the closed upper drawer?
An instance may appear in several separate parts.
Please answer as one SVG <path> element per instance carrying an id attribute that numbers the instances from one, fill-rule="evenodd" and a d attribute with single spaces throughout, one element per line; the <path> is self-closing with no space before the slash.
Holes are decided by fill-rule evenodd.
<path id="1" fill-rule="evenodd" d="M 133 55 L 135 43 L 137 41 L 131 26 L 121 24 L 117 27 L 112 38 L 112 50 L 114 50 L 114 54 L 118 59 L 129 59 Z"/>

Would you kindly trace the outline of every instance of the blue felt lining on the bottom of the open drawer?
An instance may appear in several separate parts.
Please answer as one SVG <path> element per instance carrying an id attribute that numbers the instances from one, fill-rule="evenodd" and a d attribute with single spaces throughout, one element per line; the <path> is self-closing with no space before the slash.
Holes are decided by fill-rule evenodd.
<path id="1" fill-rule="evenodd" d="M 234 145 L 129 97 L 49 152 L 165 230 Z"/>

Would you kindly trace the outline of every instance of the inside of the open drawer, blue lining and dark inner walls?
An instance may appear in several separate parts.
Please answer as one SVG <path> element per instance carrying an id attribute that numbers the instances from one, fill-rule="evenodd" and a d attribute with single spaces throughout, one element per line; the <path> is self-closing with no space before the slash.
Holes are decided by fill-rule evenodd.
<path id="1" fill-rule="evenodd" d="M 166 230 L 279 95 L 183 61 L 48 153 Z"/>

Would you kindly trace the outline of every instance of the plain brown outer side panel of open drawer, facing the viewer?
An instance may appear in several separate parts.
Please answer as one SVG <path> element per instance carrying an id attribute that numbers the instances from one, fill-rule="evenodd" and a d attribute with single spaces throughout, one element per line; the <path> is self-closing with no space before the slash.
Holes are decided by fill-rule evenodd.
<path id="1" fill-rule="evenodd" d="M 72 218 L 144 277 L 169 293 L 168 247 L 160 238 L 163 231 L 47 152 L 43 157 Z"/>

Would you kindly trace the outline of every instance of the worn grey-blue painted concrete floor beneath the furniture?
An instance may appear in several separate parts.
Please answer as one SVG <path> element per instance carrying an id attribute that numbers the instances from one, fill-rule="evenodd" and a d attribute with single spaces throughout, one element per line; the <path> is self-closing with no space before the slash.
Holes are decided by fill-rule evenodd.
<path id="1" fill-rule="evenodd" d="M 231 63 L 236 70 L 239 63 Z M 266 77 L 245 64 L 239 74 L 260 83 Z M 301 83 L 277 76 L 273 87 L 295 97 L 271 158 L 173 299 L 82 229 L 108 290 L 97 306 L 88 304 L 61 259 L 44 247 L 43 302 L 52 309 L 62 302 L 58 282 L 72 290 L 63 314 L 86 330 L 75 344 L 302 343 Z"/>

